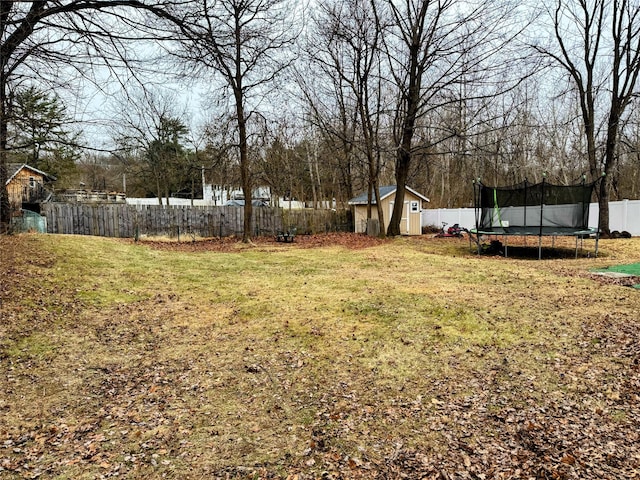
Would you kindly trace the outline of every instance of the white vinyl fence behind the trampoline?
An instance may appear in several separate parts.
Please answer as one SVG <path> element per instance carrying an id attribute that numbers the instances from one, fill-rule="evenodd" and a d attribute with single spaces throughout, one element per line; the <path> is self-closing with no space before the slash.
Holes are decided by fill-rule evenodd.
<path id="1" fill-rule="evenodd" d="M 474 208 L 437 208 L 422 211 L 422 225 L 442 227 L 460 224 L 464 228 L 475 228 L 476 211 Z M 589 206 L 589 226 L 598 226 L 598 204 Z M 627 231 L 633 236 L 640 236 L 640 200 L 622 200 L 609 202 L 609 229 L 620 232 Z"/>

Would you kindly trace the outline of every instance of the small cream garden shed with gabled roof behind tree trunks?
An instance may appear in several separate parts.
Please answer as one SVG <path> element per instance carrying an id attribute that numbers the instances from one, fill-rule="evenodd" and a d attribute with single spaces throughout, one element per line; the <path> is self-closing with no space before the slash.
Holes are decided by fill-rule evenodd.
<path id="1" fill-rule="evenodd" d="M 382 204 L 382 215 L 384 217 L 384 230 L 389 228 L 389 220 L 393 213 L 393 205 L 396 201 L 395 185 L 380 187 L 380 203 Z M 371 199 L 371 217 L 378 218 L 375 196 Z M 400 233 L 402 235 L 422 234 L 422 209 L 423 203 L 429 199 L 415 190 L 405 187 L 404 206 L 402 208 L 402 219 L 400 220 Z M 349 200 L 349 205 L 353 206 L 353 218 L 356 233 L 366 233 L 367 231 L 367 193 L 358 195 Z"/>

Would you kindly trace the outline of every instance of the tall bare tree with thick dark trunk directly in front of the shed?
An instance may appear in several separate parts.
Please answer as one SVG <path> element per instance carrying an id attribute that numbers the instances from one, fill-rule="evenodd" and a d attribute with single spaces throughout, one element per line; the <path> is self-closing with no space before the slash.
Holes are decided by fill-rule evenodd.
<path id="1" fill-rule="evenodd" d="M 458 8 L 454 0 L 386 0 L 388 27 L 384 48 L 397 91 L 394 120 L 396 146 L 396 201 L 387 234 L 400 234 L 405 186 L 415 152 L 414 137 L 428 128 L 422 120 L 459 99 L 444 95 L 470 71 L 485 68 L 487 60 L 509 43 L 514 32 L 500 32 L 509 15 L 509 3 L 479 1 Z M 517 32 L 516 32 L 517 33 Z M 471 41 L 470 41 L 471 39 Z M 497 79 L 494 70 L 494 81 Z M 504 81 L 504 79 L 501 79 Z M 506 88 L 506 87 L 505 87 Z M 495 95 L 496 92 L 492 92 Z M 457 135 L 454 129 L 422 135 L 420 150 L 429 151 Z"/>

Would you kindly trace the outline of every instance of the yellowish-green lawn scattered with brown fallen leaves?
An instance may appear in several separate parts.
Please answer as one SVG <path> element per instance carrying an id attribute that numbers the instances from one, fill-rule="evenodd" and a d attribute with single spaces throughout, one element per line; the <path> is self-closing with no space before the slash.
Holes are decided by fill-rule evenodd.
<path id="1" fill-rule="evenodd" d="M 640 242 L 440 240 L 0 237 L 0 477 L 640 477 Z"/>

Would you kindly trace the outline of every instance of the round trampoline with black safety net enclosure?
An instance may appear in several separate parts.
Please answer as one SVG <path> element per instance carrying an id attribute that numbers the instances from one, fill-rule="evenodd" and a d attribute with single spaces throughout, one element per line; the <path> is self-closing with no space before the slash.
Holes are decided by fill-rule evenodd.
<path id="1" fill-rule="evenodd" d="M 576 258 L 584 239 L 595 239 L 598 255 L 599 230 L 588 226 L 589 204 L 596 182 L 583 181 L 574 185 L 554 185 L 546 180 L 540 183 L 508 187 L 489 187 L 474 182 L 476 228 L 470 232 L 480 236 L 499 236 L 505 240 L 508 256 L 508 238 L 511 236 L 538 237 L 538 259 L 542 258 L 542 237 L 575 237 Z"/>

